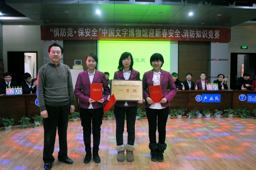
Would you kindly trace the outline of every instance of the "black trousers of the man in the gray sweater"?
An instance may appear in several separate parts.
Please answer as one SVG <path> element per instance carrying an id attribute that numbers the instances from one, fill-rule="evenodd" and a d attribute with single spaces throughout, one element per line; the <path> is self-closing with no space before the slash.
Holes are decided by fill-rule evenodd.
<path id="1" fill-rule="evenodd" d="M 43 119 L 44 126 L 44 163 L 52 163 L 55 159 L 52 156 L 55 146 L 56 130 L 59 136 L 59 153 L 58 159 L 65 159 L 68 157 L 67 146 L 67 129 L 68 117 L 70 113 L 70 105 L 53 107 L 47 106 L 48 118 Z"/>

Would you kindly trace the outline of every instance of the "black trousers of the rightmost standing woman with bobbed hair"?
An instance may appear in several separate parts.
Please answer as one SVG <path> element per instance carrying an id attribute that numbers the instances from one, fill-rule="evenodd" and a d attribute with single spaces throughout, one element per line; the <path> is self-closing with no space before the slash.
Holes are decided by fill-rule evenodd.
<path id="1" fill-rule="evenodd" d="M 150 143 L 156 143 L 156 129 L 158 130 L 158 143 L 164 144 L 166 142 L 168 113 L 169 107 L 164 109 L 150 109 L 146 107 Z"/>

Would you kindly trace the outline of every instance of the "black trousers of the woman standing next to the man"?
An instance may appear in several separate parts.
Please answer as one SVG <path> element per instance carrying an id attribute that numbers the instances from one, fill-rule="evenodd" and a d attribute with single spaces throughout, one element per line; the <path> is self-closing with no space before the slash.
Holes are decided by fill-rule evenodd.
<path id="1" fill-rule="evenodd" d="M 84 109 L 80 107 L 80 118 L 84 132 L 84 144 L 91 143 L 90 135 L 93 134 L 93 146 L 99 146 L 101 140 L 101 125 L 103 118 L 103 107 L 98 109 Z"/>

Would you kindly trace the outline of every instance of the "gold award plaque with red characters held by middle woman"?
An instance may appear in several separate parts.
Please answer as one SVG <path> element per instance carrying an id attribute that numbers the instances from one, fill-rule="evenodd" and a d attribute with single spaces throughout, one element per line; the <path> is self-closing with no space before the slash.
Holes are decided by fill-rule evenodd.
<path id="1" fill-rule="evenodd" d="M 117 101 L 143 100 L 141 80 L 111 80 L 110 89 Z"/>

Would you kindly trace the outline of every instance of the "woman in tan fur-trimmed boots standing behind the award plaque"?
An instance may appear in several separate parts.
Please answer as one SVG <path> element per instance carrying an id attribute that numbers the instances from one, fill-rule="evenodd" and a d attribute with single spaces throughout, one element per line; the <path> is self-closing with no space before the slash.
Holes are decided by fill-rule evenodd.
<path id="1" fill-rule="evenodd" d="M 114 73 L 114 80 L 140 80 L 139 72 L 133 69 L 133 56 L 129 52 L 122 53 L 118 70 Z M 138 102 L 115 102 L 114 114 L 115 114 L 115 138 L 117 140 L 117 160 L 125 160 L 125 150 L 127 161 L 134 161 L 133 151 L 135 149 L 135 121 L 137 115 L 137 104 L 143 103 L 142 100 Z M 123 131 L 125 126 L 125 115 L 126 115 L 126 126 L 127 126 L 127 144 L 123 144 Z"/>

